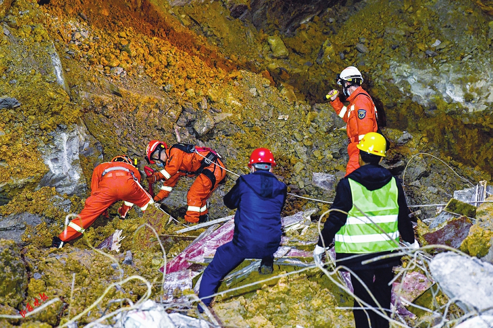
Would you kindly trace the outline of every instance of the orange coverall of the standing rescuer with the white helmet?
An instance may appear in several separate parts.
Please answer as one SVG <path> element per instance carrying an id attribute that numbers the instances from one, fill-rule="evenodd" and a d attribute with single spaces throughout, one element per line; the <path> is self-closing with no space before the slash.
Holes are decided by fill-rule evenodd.
<path id="1" fill-rule="evenodd" d="M 358 96 L 359 94 L 359 96 Z M 356 145 L 359 140 L 368 132 L 376 132 L 376 107 L 371 100 L 370 95 L 358 87 L 347 98 L 349 105 L 346 107 L 339 100 L 339 97 L 330 102 L 337 115 L 342 118 L 347 125 L 348 134 L 348 154 L 349 161 L 346 167 L 346 175 L 359 168 L 359 149 Z"/>

